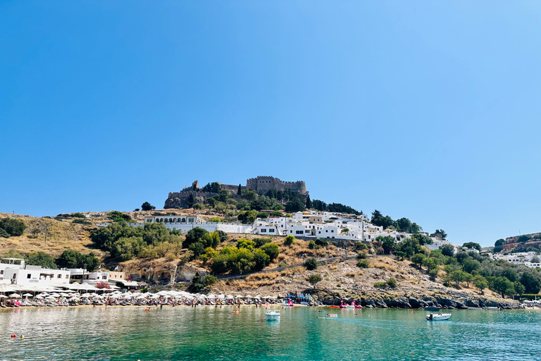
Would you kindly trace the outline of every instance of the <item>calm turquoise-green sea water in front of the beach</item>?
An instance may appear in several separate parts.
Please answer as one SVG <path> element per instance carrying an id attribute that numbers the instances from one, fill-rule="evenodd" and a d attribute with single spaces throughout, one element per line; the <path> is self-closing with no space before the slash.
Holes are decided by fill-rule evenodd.
<path id="1" fill-rule="evenodd" d="M 264 308 L 230 310 L 1 310 L 0 360 L 541 360 L 540 311 L 452 310 L 427 322 L 422 310 L 295 307 L 268 322 Z"/>

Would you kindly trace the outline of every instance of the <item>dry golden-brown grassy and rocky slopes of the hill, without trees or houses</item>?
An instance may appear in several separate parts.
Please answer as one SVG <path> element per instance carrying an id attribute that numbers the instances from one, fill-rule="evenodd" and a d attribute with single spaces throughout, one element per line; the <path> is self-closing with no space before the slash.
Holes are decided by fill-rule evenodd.
<path id="1" fill-rule="evenodd" d="M 87 212 L 83 214 L 64 214 L 55 218 L 0 214 L 0 218 L 11 217 L 23 221 L 27 227 L 20 236 L 0 238 L 0 249 L 5 254 L 8 250 L 28 255 L 33 252 L 45 252 L 58 257 L 64 250 L 75 250 L 83 254 L 93 252 L 100 262 L 108 269 L 120 264 L 127 275 L 133 275 L 144 281 L 152 283 L 161 281 L 168 283 L 171 276 L 182 279 L 185 274 L 207 274 L 211 270 L 211 260 L 206 257 L 194 257 L 192 251 L 180 247 L 180 243 L 163 243 L 150 246 L 150 250 L 161 252 L 159 247 L 167 245 L 168 250 L 162 252 L 163 257 L 135 257 L 125 262 L 111 257 L 109 252 L 100 250 L 90 239 L 94 229 L 103 229 L 94 226 L 94 223 L 111 221 L 109 212 Z M 123 212 L 125 216 L 136 221 L 143 221 L 149 214 L 170 214 L 170 211 L 151 212 Z M 178 215 L 200 214 L 189 210 L 175 212 Z M 216 216 L 207 210 L 204 217 Z M 84 218 L 83 218 L 84 217 Z M 77 222 L 79 223 L 74 223 Z M 80 224 L 90 222 L 90 224 Z M 158 226 L 158 225 L 156 225 Z M 45 241 L 45 228 L 47 239 Z M 175 235 L 178 240 L 184 240 L 186 234 Z M 256 240 L 258 235 L 229 234 L 227 240 L 222 240 L 216 246 L 216 255 L 225 248 L 237 249 L 237 240 Z M 261 239 L 261 238 L 260 238 Z M 502 298 L 485 287 L 482 293 L 472 283 L 462 282 L 460 287 L 444 286 L 451 279 L 450 272 L 444 263 L 436 266 L 437 276 L 432 278 L 425 268 L 413 265 L 409 260 L 398 260 L 392 255 L 367 255 L 366 268 L 357 265 L 358 251 L 353 243 L 329 243 L 328 245 L 309 247 L 308 240 L 296 239 L 292 245 L 285 245 L 285 238 L 272 237 L 267 242 L 278 245 L 280 253 L 262 271 L 252 271 L 244 276 L 230 275 L 228 272 L 218 276 L 218 282 L 205 288 L 210 293 L 295 293 L 314 292 L 316 298 L 325 302 L 340 302 L 341 299 L 362 300 L 366 305 L 375 307 L 416 307 L 416 305 L 430 305 L 430 303 L 450 302 L 449 306 L 462 307 L 466 304 L 475 305 L 482 300 L 484 304 L 501 304 Z M 178 241 L 177 241 L 178 242 Z M 372 245 L 368 245 L 372 247 Z M 374 253 L 368 248 L 363 252 Z M 154 251 L 153 251 L 154 252 Z M 154 252 L 156 254 L 156 252 Z M 428 250 L 424 250 L 428 254 Z M 156 254 L 156 255 L 157 255 Z M 148 253 L 147 253 L 148 255 Z M 437 256 L 437 255 L 436 255 Z M 306 259 L 314 257 L 320 265 L 317 269 L 309 271 L 303 266 Z M 434 257 L 434 256 L 432 256 Z M 456 261 L 454 261 L 456 264 Z M 424 264 L 423 264 L 424 265 Z M 453 266 L 453 270 L 457 268 Z M 314 288 L 308 277 L 318 274 L 322 277 Z M 378 288 L 378 283 L 385 283 L 390 279 L 396 281 L 396 286 L 386 289 Z M 447 281 L 444 281 L 447 279 Z M 385 285 L 384 285 L 385 286 Z M 450 285 L 449 285 L 450 286 Z M 458 303 L 456 303 L 458 302 Z"/>

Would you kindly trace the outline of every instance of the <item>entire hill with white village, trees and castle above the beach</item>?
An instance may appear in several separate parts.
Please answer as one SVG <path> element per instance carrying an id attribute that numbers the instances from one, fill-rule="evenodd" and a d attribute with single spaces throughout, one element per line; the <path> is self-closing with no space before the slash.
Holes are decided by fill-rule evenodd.
<path id="1" fill-rule="evenodd" d="M 454 299 L 449 301 L 454 307 L 491 298 L 501 303 L 504 295 L 524 293 L 522 285 L 535 293 L 537 283 L 541 288 L 538 233 L 497 240 L 495 250 L 501 253 L 495 253 L 477 243 L 451 243 L 442 230 L 427 233 L 409 219 L 393 221 L 378 211 L 368 217 L 354 209 L 313 209 L 304 182 L 273 179 L 252 178 L 245 188 L 209 183 L 204 199 L 192 193 L 199 190 L 194 182 L 182 199 L 204 203 L 189 204 L 189 209 L 156 210 L 145 202 L 147 209 L 134 212 L 41 219 L 0 214 L 11 220 L 6 224 L 23 227 L 13 235 L 0 230 L 0 249 L 8 251 L 0 260 L 0 292 L 182 288 L 204 276 L 211 282 L 201 287 L 216 293 L 281 288 L 310 290 L 325 302 L 348 298 L 375 307 L 413 307 Z M 258 181 L 266 182 L 259 193 L 254 190 Z M 299 203 L 301 210 L 291 212 Z M 509 267 L 514 267 L 511 276 Z M 318 290 L 307 281 L 314 275 L 321 275 Z M 505 283 L 502 290 L 497 282 L 511 286 Z M 404 301 L 413 295 L 415 300 Z M 381 297 L 386 301 L 377 301 Z"/>

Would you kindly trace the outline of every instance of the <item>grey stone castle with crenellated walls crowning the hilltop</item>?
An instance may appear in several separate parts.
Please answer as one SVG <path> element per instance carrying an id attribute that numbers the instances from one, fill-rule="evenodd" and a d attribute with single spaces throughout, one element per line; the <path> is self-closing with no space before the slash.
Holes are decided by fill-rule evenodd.
<path id="1" fill-rule="evenodd" d="M 228 190 L 233 196 L 237 196 L 237 191 L 239 189 L 238 185 L 222 184 L 219 182 L 218 184 L 220 185 L 220 190 Z M 306 192 L 306 183 L 304 181 L 285 182 L 270 176 L 258 176 L 256 178 L 247 179 L 246 185 L 241 186 L 241 190 L 245 189 L 254 190 L 260 194 L 263 194 L 268 190 L 291 190 L 299 192 L 302 195 L 308 193 Z M 213 197 L 218 193 L 202 192 L 199 188 L 199 181 L 194 181 L 191 186 L 180 190 L 180 192 L 170 192 L 163 208 L 187 208 L 187 201 L 190 194 L 194 195 L 196 202 L 203 203 L 206 198 Z"/>

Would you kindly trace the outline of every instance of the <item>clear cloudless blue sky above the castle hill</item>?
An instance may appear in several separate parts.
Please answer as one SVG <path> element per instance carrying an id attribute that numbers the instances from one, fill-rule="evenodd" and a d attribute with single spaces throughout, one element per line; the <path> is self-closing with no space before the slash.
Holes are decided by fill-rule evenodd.
<path id="1" fill-rule="evenodd" d="M 540 1 L 2 1 L 0 212 L 306 181 L 456 243 L 541 231 Z"/>

